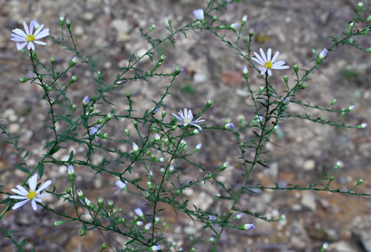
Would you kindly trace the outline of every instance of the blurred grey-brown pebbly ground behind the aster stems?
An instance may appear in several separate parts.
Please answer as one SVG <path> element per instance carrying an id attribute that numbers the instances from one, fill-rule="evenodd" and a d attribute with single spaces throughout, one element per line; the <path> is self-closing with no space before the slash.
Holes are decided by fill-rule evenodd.
<path id="1" fill-rule="evenodd" d="M 247 36 L 249 28 L 254 28 L 252 51 L 259 48 L 271 48 L 273 53 L 280 51 L 280 60 L 290 65 L 288 70 L 273 71 L 271 84 L 283 89 L 283 75 L 288 75 L 290 86 L 294 85 L 292 65 L 297 63 L 302 69 L 310 68 L 313 63 L 312 49 L 317 52 L 332 44 L 331 36 L 339 34 L 353 17 L 358 1 L 350 0 L 312 0 L 312 1 L 258 1 L 245 0 L 233 4 L 223 13 L 214 13 L 226 23 L 240 22 L 243 15 L 248 15 L 243 34 Z M 204 1 L 195 0 L 159 0 L 159 1 L 119 1 L 119 0 L 86 0 L 86 1 L 15 1 L 0 0 L 0 120 L 6 123 L 8 132 L 18 136 L 18 146 L 30 151 L 28 167 L 34 167 L 45 151 L 45 141 L 52 139 L 52 131 L 46 130 L 47 102 L 42 101 L 43 91 L 35 84 L 20 83 L 20 77 L 32 77 L 30 60 L 16 49 L 16 43 L 10 40 L 11 30 L 22 29 L 23 20 L 37 20 L 50 29 L 54 37 L 61 37 L 59 16 L 70 18 L 76 45 L 83 55 L 88 55 L 97 63 L 106 82 L 112 82 L 118 68 L 127 65 L 131 53 L 141 56 L 150 46 L 141 38 L 139 29 L 148 30 L 155 24 L 152 33 L 155 38 L 167 36 L 167 19 L 172 18 L 175 29 L 194 20 L 192 11 L 205 8 Z M 370 8 L 370 4 L 367 6 Z M 368 15 L 368 14 L 367 14 Z M 356 24 L 358 25 L 358 24 Z M 66 32 L 66 30 L 65 30 Z M 225 32 L 226 38 L 236 39 L 232 32 Z M 56 58 L 57 69 L 66 69 L 73 58 L 52 39 L 42 39 L 47 46 L 37 45 L 37 56 L 49 62 Z M 363 46 L 371 46 L 370 39 L 363 39 Z M 172 96 L 164 102 L 167 120 L 170 114 L 180 108 L 191 108 L 194 113 L 201 110 L 208 99 L 215 103 L 204 113 L 208 127 L 223 125 L 223 118 L 238 125 L 240 118 L 251 122 L 254 111 L 251 106 L 246 84 L 242 77 L 242 66 L 247 63 L 228 49 L 207 31 L 203 33 L 188 32 L 175 36 L 176 48 L 165 42 L 155 50 L 157 55 L 167 58 L 160 70 L 170 73 L 176 65 L 184 68 L 175 86 Z M 240 44 L 243 46 L 243 44 Z M 296 100 L 310 101 L 318 106 L 328 106 L 333 99 L 338 103 L 334 108 L 342 109 L 355 105 L 355 110 L 347 113 L 343 122 L 348 125 L 360 125 L 371 122 L 370 90 L 370 56 L 351 46 L 341 46 L 329 52 L 328 58 L 321 64 L 320 71 L 315 71 L 307 81 L 308 87 L 298 92 Z M 146 57 L 137 65 L 148 70 L 155 63 Z M 252 89 L 258 90 L 261 85 L 259 73 L 250 70 Z M 78 80 L 69 90 L 69 99 L 78 106 L 84 96 L 93 96 L 98 87 L 92 79 L 93 74 L 87 65 L 79 62 L 66 77 L 72 75 Z M 152 100 L 158 101 L 165 86 L 170 83 L 167 78 L 156 78 L 148 82 L 127 82 L 120 89 L 115 89 L 108 96 L 116 106 L 101 104 L 95 111 L 109 112 L 112 108 L 116 114 L 124 114 L 127 109 L 125 92 L 130 91 L 136 115 L 142 115 L 146 109 L 153 108 Z M 322 117 L 336 120 L 338 115 L 304 110 L 290 103 L 292 113 L 310 113 L 312 118 Z M 60 125 L 57 125 L 60 126 Z M 124 138 L 124 130 L 134 133 L 131 121 L 112 121 L 105 132 L 114 137 Z M 246 136 L 247 137 L 247 136 Z M 300 184 L 306 187 L 317 182 L 327 174 L 337 161 L 342 163 L 333 182 L 334 188 L 353 187 L 358 179 L 365 182 L 358 188 L 360 192 L 370 192 L 371 176 L 371 136 L 370 130 L 346 130 L 328 125 L 298 119 L 286 119 L 281 122 L 280 130 L 273 135 L 273 144 L 266 145 L 266 158 L 271 160 L 270 169 L 256 168 L 248 184 L 274 185 L 274 182 L 285 186 Z M 0 136 L 0 184 L 4 191 L 10 191 L 16 184 L 23 182 L 25 175 L 15 168 L 20 160 L 12 155 L 13 147 L 6 144 L 6 137 Z M 202 149 L 192 158 L 196 163 L 203 163 L 211 170 L 218 168 L 225 160 L 230 160 L 232 167 L 225 170 L 225 183 L 238 187 L 242 183 L 242 168 L 236 162 L 238 149 L 229 132 L 208 130 L 196 137 L 187 139 L 188 148 L 192 150 L 197 143 Z M 131 146 L 122 144 L 122 151 L 131 151 Z M 68 159 L 73 150 L 75 158 L 83 159 L 86 149 L 83 146 L 71 145 L 58 151 L 54 157 Z M 94 153 L 93 162 L 100 163 L 102 158 L 112 158 L 107 153 Z M 119 168 L 117 168 L 119 169 Z M 194 168 L 179 165 L 183 179 L 191 181 L 197 174 Z M 76 186 L 83 189 L 90 201 L 96 203 L 98 197 L 113 199 L 115 208 L 124 209 L 126 216 L 134 216 L 134 208 L 141 207 L 146 213 L 146 201 L 141 197 L 130 196 L 123 191 L 113 195 L 115 179 L 109 175 L 95 175 L 85 167 L 75 167 Z M 132 176 L 144 175 L 141 171 Z M 57 192 L 61 193 L 69 183 L 66 168 L 59 165 L 46 165 L 42 180 L 52 179 Z M 216 184 L 208 184 L 199 189 L 187 189 L 187 197 L 202 209 L 207 209 L 213 197 L 220 193 Z M 227 229 L 220 240 L 219 251 L 319 251 L 324 242 L 329 242 L 329 251 L 371 251 L 370 234 L 370 200 L 364 197 L 346 198 L 341 194 L 314 193 L 313 191 L 257 191 L 257 194 L 246 193 L 239 202 L 240 208 L 259 212 L 269 218 L 278 218 L 284 214 L 282 222 L 264 222 L 263 220 L 244 215 L 241 224 L 254 223 L 255 229 L 249 232 L 237 232 Z M 2 199 L 1 199 L 2 200 Z M 59 211 L 71 210 L 62 201 L 49 197 L 46 202 Z M 1 207 L 4 207 L 3 205 Z M 166 208 L 166 206 L 164 206 Z M 226 210 L 218 206 L 218 213 Z M 2 208 L 1 208 L 2 210 Z M 197 237 L 202 225 L 194 223 L 187 216 L 175 215 L 171 208 L 161 217 L 167 222 L 166 239 L 175 241 L 185 250 L 192 247 L 190 236 Z M 9 211 L 0 220 L 1 227 L 7 230 L 20 230 L 14 237 L 28 239 L 25 248 L 35 251 L 98 251 L 105 239 L 100 232 L 87 232 L 85 237 L 78 236 L 78 225 L 66 224 L 54 226 L 59 220 L 42 208 L 34 212 L 29 204 L 18 210 Z M 206 235 L 206 234 L 205 234 Z M 106 234 L 112 246 L 120 248 L 126 239 Z M 204 237 L 208 239 L 208 237 Z M 197 251 L 209 251 L 210 244 L 201 243 Z M 0 239 L 0 251 L 16 251 L 8 239 Z"/>

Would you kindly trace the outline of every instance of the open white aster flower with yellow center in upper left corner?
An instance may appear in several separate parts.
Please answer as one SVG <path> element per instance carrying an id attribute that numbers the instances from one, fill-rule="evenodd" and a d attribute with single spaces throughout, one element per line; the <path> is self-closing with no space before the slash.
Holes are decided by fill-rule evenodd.
<path id="1" fill-rule="evenodd" d="M 17 28 L 12 30 L 14 33 L 11 34 L 11 40 L 21 42 L 17 43 L 18 51 L 22 50 L 26 45 L 28 50 L 33 49 L 35 51 L 35 44 L 47 44 L 45 42 L 37 41 L 37 39 L 42 39 L 43 37 L 49 36 L 49 29 L 42 30 L 44 25 L 39 25 L 35 20 L 33 20 L 30 23 L 30 29 L 28 29 L 28 26 L 25 22 L 23 22 L 23 27 L 25 28 L 25 32 Z M 34 27 L 37 28 L 35 33 L 33 33 Z"/>

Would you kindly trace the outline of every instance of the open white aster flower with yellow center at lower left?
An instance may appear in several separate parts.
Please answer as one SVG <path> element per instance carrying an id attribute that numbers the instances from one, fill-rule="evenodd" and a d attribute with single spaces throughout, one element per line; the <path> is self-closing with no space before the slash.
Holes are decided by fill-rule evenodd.
<path id="1" fill-rule="evenodd" d="M 24 199 L 24 201 L 20 201 L 18 203 L 15 203 L 12 209 L 13 210 L 17 209 L 17 208 L 23 206 L 28 201 L 31 201 L 31 205 L 33 206 L 33 210 L 37 210 L 36 202 L 41 202 L 41 199 L 39 199 L 40 197 L 47 196 L 47 194 L 40 194 L 40 191 L 47 188 L 49 186 L 49 184 L 52 184 L 52 180 L 48 180 L 47 182 L 42 184 L 39 187 L 39 189 L 36 190 L 37 173 L 35 173 L 35 175 L 33 175 L 32 177 L 30 177 L 30 179 L 28 179 L 28 186 L 30 187 L 30 189 L 28 191 L 24 187 L 22 187 L 18 184 L 18 186 L 17 186 L 18 189 L 13 188 L 13 189 L 11 189 L 11 191 L 15 192 L 16 194 L 20 194 L 20 196 L 11 195 L 11 196 L 9 196 L 9 198 L 11 198 L 11 199 Z"/>

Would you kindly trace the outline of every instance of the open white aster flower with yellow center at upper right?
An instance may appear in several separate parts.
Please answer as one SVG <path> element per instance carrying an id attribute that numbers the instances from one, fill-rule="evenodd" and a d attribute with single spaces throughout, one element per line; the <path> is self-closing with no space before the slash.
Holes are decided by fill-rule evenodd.
<path id="1" fill-rule="evenodd" d="M 271 58 L 271 53 L 272 49 L 268 49 L 267 55 L 264 53 L 263 49 L 260 49 L 261 56 L 259 56 L 258 53 L 254 52 L 257 58 L 252 58 L 252 60 L 259 63 L 260 65 L 263 65 L 262 68 L 259 68 L 261 75 L 264 75 L 264 73 L 268 71 L 268 75 L 271 76 L 272 75 L 271 69 L 281 70 L 288 68 L 288 65 L 284 65 L 285 61 L 277 61 L 275 63 L 276 59 L 278 58 L 278 55 L 280 54 L 279 51 L 274 53 L 273 58 Z"/>

